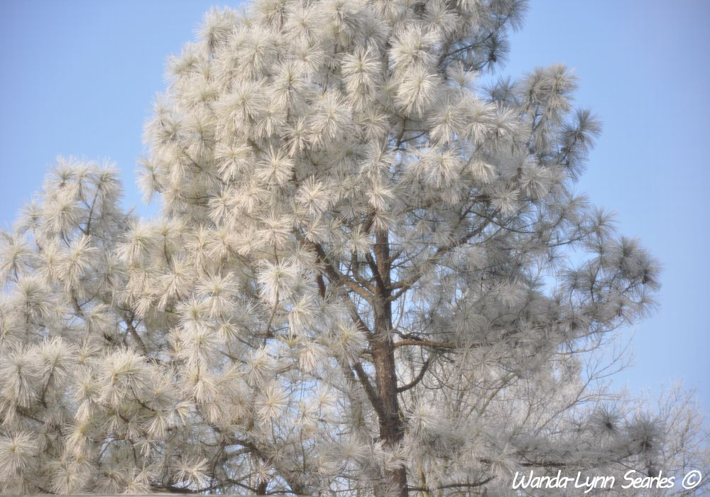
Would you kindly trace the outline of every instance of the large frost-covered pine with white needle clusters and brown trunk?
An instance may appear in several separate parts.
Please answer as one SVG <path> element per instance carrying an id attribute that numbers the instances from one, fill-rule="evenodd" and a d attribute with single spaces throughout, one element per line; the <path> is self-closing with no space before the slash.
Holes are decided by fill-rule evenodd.
<path id="1" fill-rule="evenodd" d="M 530 469 L 706 473 L 687 396 L 603 383 L 618 356 L 597 352 L 658 268 L 573 193 L 600 129 L 574 77 L 476 84 L 523 7 L 208 13 L 146 125 L 161 216 L 122 212 L 110 165 L 62 160 L 2 236 L 0 490 L 492 497 Z"/>

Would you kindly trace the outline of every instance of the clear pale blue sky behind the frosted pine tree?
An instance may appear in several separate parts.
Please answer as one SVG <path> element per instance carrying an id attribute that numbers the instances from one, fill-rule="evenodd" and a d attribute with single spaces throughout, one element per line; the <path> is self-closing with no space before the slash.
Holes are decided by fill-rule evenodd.
<path id="1" fill-rule="evenodd" d="M 232 5 L 236 4 L 233 2 Z M 0 0 L 0 229 L 56 155 L 136 159 L 163 67 L 211 1 Z M 662 261 L 661 307 L 635 329 L 632 391 L 682 380 L 710 411 L 710 2 L 538 0 L 505 72 L 564 62 L 604 133 L 579 190 Z M 150 212 L 145 206 L 139 212 Z"/>

